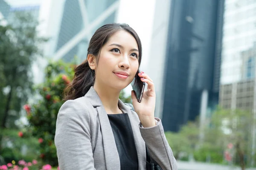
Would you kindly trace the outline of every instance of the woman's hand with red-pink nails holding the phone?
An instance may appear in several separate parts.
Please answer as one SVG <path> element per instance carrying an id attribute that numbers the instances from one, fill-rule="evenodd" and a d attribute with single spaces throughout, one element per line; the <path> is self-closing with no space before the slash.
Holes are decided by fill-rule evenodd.
<path id="1" fill-rule="evenodd" d="M 144 91 L 141 102 L 137 101 L 134 91 L 131 92 L 132 104 L 134 110 L 139 116 L 140 122 L 143 127 L 153 127 L 156 125 L 154 119 L 154 109 L 156 105 L 156 93 L 154 90 L 154 83 L 144 72 L 140 72 L 139 77 L 141 81 L 148 84 L 148 89 Z"/>

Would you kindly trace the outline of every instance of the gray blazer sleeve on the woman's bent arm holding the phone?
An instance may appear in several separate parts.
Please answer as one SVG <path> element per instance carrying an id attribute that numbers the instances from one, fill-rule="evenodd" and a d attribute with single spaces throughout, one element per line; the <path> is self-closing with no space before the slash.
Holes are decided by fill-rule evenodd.
<path id="1" fill-rule="evenodd" d="M 177 162 L 167 142 L 162 122 L 159 118 L 155 119 L 157 125 L 154 127 L 145 128 L 141 123 L 139 125 L 141 136 L 148 147 L 148 153 L 163 170 L 177 170 Z"/>

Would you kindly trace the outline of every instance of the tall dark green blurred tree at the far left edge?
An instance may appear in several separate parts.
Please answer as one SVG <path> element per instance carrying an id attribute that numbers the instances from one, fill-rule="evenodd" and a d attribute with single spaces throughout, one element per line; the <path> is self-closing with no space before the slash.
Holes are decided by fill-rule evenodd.
<path id="1" fill-rule="evenodd" d="M 16 12 L 14 22 L 0 25 L 0 128 L 15 127 L 23 105 L 32 93 L 31 66 L 38 45 L 38 22 L 32 15 Z M 0 135 L 0 150 L 2 136 Z"/>

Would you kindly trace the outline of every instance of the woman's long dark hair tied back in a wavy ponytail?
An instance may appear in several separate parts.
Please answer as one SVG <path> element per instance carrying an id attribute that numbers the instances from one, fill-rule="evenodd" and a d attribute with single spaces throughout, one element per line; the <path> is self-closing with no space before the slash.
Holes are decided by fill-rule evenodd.
<path id="1" fill-rule="evenodd" d="M 131 28 L 128 24 L 119 24 L 112 23 L 106 24 L 96 30 L 93 34 L 93 37 L 90 40 L 89 47 L 87 50 L 88 54 L 93 54 L 96 58 L 96 61 L 99 61 L 99 54 L 103 45 L 109 40 L 109 38 L 116 33 L 117 31 L 124 30 L 130 33 L 136 40 L 139 50 L 139 67 L 142 56 L 142 46 L 140 42 L 140 38 L 138 34 Z M 141 86 L 143 82 L 140 81 L 140 77 L 138 76 L 139 69 L 135 76 L 135 84 L 137 86 Z M 64 89 L 64 101 L 77 99 L 79 97 L 84 96 L 90 89 L 91 86 L 94 85 L 95 81 L 95 71 L 92 70 L 88 64 L 87 59 L 84 60 L 80 65 L 78 65 L 75 69 L 75 75 L 73 81 L 67 85 Z"/>

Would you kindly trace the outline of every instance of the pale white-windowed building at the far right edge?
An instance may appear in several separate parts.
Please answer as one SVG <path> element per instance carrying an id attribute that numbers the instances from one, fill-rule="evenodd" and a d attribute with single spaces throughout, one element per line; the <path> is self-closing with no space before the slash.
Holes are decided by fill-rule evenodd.
<path id="1" fill-rule="evenodd" d="M 220 105 L 255 110 L 255 1 L 226 0 L 223 27 Z"/>

